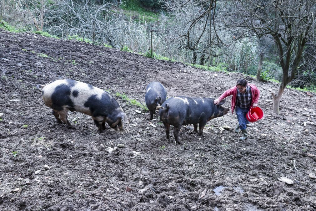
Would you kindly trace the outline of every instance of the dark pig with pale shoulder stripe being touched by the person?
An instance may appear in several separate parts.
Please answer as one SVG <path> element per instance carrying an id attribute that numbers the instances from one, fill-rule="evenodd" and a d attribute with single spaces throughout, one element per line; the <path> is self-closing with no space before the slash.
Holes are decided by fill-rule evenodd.
<path id="1" fill-rule="evenodd" d="M 206 122 L 228 113 L 229 108 L 222 106 L 224 103 L 225 100 L 222 100 L 218 105 L 214 105 L 213 98 L 185 96 L 169 98 L 162 103 L 159 110 L 160 120 L 165 125 L 167 139 L 170 138 L 170 125 L 174 127 L 175 141 L 181 145 L 183 142 L 179 141 L 178 135 L 182 125 L 193 124 L 194 131 L 197 132 L 197 124 L 199 124 L 198 135 L 202 135 Z"/>

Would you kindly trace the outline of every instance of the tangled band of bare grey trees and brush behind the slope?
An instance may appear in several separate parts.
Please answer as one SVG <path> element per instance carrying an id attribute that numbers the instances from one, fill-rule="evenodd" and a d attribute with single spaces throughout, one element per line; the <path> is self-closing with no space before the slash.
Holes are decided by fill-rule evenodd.
<path id="1" fill-rule="evenodd" d="M 65 38 L 82 37 L 116 48 L 146 53 L 150 31 L 156 54 L 200 65 L 255 74 L 263 66 L 281 66 L 271 77 L 315 84 L 316 1 L 161 0 L 164 12 L 147 22 L 145 14 L 120 9 L 119 0 L 1 0 L 3 18 L 29 30 Z M 12 18 L 15 17 L 15 18 Z"/>

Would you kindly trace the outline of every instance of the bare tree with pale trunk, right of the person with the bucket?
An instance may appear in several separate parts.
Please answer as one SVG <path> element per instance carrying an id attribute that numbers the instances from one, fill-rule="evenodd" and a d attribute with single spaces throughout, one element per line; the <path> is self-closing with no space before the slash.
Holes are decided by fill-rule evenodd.
<path id="1" fill-rule="evenodd" d="M 228 28 L 245 28 L 239 36 L 272 36 L 283 70 L 282 82 L 273 96 L 273 113 L 279 114 L 283 91 L 298 73 L 304 48 L 315 42 L 316 1 L 227 1 L 223 22 Z"/>

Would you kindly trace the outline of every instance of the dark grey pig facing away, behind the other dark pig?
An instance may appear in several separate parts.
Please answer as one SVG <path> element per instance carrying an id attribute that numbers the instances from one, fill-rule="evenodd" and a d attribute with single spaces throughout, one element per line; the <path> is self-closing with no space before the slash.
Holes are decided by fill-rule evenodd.
<path id="1" fill-rule="evenodd" d="M 146 90 L 145 102 L 150 112 L 149 120 L 153 120 L 153 116 L 156 114 L 156 107 L 165 102 L 167 98 L 167 90 L 161 83 L 157 81 L 153 81 L 148 84 Z"/>

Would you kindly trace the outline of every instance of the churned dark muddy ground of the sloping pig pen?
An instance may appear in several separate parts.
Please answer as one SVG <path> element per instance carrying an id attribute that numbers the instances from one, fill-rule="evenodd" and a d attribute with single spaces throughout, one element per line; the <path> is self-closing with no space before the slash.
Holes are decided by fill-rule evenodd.
<path id="1" fill-rule="evenodd" d="M 277 84 L 246 77 L 265 115 L 248 140 L 219 129 L 234 128 L 230 112 L 209 121 L 204 137 L 182 128 L 181 146 L 165 138 L 158 116 L 148 121 L 115 93 L 144 103 L 147 84 L 159 80 L 168 96 L 218 97 L 242 74 L 37 34 L 0 30 L 0 38 L 0 210 L 316 210 L 316 116 L 302 115 L 315 114 L 315 96 L 286 89 L 274 115 Z M 68 116 L 76 129 L 57 123 L 35 86 L 64 78 L 108 90 L 131 124 L 99 134 L 78 112 Z M 118 144 L 125 148 L 106 152 Z"/>

